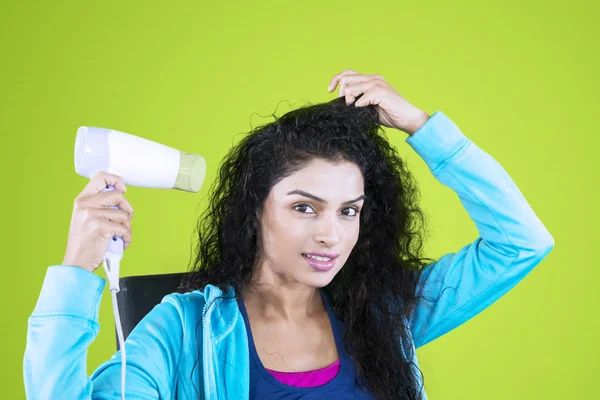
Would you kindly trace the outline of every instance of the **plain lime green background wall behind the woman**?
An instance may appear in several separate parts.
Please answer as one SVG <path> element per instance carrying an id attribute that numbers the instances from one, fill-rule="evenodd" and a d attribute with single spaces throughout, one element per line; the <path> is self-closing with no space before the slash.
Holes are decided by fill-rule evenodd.
<path id="1" fill-rule="evenodd" d="M 595 3 L 595 4 L 594 4 Z M 506 296 L 420 348 L 431 399 L 589 398 L 600 372 L 598 2 L 2 2 L 2 398 L 25 398 L 27 318 L 62 262 L 81 125 L 202 154 L 198 194 L 130 187 L 122 276 L 178 272 L 227 150 L 252 126 L 327 101 L 346 68 L 442 110 L 509 172 L 555 240 Z M 419 181 L 431 257 L 478 235 L 458 197 L 387 131 Z M 596 156 L 595 156 L 596 155 Z M 596 248 L 597 249 L 597 248 Z M 98 270 L 104 276 L 102 268 Z M 82 288 L 85 290 L 85 288 Z M 111 298 L 88 375 L 115 351 Z"/>

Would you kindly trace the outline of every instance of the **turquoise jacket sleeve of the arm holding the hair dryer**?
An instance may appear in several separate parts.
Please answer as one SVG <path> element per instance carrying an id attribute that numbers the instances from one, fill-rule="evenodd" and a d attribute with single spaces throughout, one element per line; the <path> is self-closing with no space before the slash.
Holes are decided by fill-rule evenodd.
<path id="1" fill-rule="evenodd" d="M 98 312 L 106 281 L 75 266 L 51 266 L 29 317 L 23 360 L 28 399 L 120 399 L 121 351 L 91 377 L 87 349 L 100 325 Z M 182 343 L 181 308 L 166 296 L 125 341 L 125 392 L 130 400 L 172 397 Z"/>

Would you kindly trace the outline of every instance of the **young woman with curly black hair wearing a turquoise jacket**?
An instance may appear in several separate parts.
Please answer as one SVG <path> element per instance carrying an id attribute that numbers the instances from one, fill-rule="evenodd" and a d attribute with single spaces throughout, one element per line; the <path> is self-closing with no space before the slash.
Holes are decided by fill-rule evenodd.
<path id="1" fill-rule="evenodd" d="M 127 339 L 128 399 L 425 399 L 415 349 L 553 248 L 507 172 L 441 111 L 379 75 L 346 70 L 338 85 L 336 100 L 254 129 L 227 155 L 188 279 Z M 380 125 L 408 134 L 480 237 L 421 257 L 419 192 Z M 93 271 L 113 235 L 131 242 L 124 191 L 101 173 L 76 199 L 65 259 L 29 319 L 28 398 L 120 396 L 119 352 L 88 377 L 86 351 L 105 285 Z"/>

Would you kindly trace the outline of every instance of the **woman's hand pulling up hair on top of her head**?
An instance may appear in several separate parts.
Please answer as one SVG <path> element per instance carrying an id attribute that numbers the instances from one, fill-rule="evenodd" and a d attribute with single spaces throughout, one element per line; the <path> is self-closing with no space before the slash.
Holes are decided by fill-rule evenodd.
<path id="1" fill-rule="evenodd" d="M 429 119 L 429 114 L 410 104 L 400 96 L 381 75 L 364 75 L 347 69 L 331 78 L 328 91 L 340 84 L 338 97 L 344 96 L 346 104 L 355 107 L 369 104 L 377 106 L 379 123 L 413 135 Z M 362 97 L 356 100 L 356 97 Z"/>

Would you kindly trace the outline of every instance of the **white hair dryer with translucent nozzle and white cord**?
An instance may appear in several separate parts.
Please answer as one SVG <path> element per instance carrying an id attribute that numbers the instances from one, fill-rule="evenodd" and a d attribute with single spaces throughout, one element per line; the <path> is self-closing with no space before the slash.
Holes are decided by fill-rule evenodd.
<path id="1" fill-rule="evenodd" d="M 204 157 L 175 150 L 138 136 L 112 129 L 82 126 L 75 139 L 75 171 L 86 178 L 96 172 L 115 174 L 125 185 L 198 192 L 206 175 Z M 108 186 L 104 191 L 114 190 Z M 118 207 L 111 207 L 116 208 Z M 123 258 L 123 238 L 113 237 L 102 265 L 110 284 L 115 325 L 121 348 L 121 398 L 125 399 L 125 341 L 116 293 Z"/>

